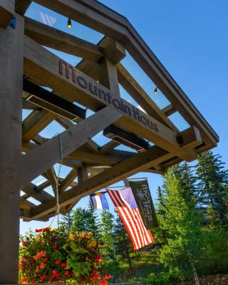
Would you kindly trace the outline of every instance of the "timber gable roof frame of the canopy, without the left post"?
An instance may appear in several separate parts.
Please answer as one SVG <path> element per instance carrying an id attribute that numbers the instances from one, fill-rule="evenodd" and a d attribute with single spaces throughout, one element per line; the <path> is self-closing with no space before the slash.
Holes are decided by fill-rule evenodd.
<path id="1" fill-rule="evenodd" d="M 21 196 L 21 217 L 24 220 L 47 220 L 56 214 L 56 172 L 53 165 L 61 159 L 63 165 L 71 167 L 68 175 L 60 178 L 59 186 L 61 212 L 66 213 L 81 197 L 125 177 L 141 171 L 162 174 L 170 165 L 182 160 L 195 160 L 199 152 L 217 145 L 217 134 L 128 19 L 95 0 L 34 2 L 93 28 L 105 37 L 95 45 L 24 17 L 25 80 L 51 88 L 53 100 L 59 96 L 68 103 L 80 103 L 94 112 L 86 119 L 79 112 L 73 123 L 64 114 L 60 115 L 45 105 L 34 104 L 37 101 L 29 101 L 31 96 L 38 95 L 38 87 L 35 86 L 30 93 L 28 89 L 24 92 L 23 108 L 32 110 L 22 125 L 24 155 L 21 156 L 19 189 L 25 193 Z M 30 4 L 28 0 L 17 0 L 16 13 L 24 16 Z M 7 22 L 7 15 L 0 9 L 1 14 L 6 16 Z M 83 60 L 73 67 L 43 46 L 80 56 Z M 160 109 L 135 81 L 120 63 L 125 51 L 161 90 L 170 105 Z M 146 113 L 121 98 L 119 83 Z M 175 112 L 185 118 L 190 128 L 182 132 L 177 129 L 169 118 Z M 39 133 L 53 120 L 66 131 L 49 140 L 42 138 Z M 119 142 L 115 140 L 103 146 L 97 145 L 91 138 L 110 125 L 154 145 L 139 153 L 116 150 Z M 43 175 L 46 181 L 37 186 L 31 181 L 39 175 Z M 75 182 L 76 177 L 78 182 Z M 46 192 L 49 186 L 53 195 Z M 29 202 L 29 197 L 40 204 Z"/>

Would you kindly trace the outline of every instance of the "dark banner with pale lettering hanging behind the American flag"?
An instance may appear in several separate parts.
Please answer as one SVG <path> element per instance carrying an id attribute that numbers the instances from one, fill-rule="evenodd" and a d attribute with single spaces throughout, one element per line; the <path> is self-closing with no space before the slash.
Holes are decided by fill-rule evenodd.
<path id="1" fill-rule="evenodd" d="M 155 207 L 147 180 L 128 180 L 146 229 L 158 227 Z"/>

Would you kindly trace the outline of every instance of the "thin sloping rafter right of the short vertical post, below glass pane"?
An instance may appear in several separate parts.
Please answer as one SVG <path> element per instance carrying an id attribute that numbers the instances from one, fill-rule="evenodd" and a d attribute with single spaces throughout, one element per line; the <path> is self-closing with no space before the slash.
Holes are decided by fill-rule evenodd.
<path id="1" fill-rule="evenodd" d="M 125 67 L 118 64 L 118 80 L 125 88 L 125 90 L 134 98 L 134 100 L 142 107 L 148 115 L 151 115 L 156 120 L 160 121 L 167 127 L 171 128 L 175 132 L 178 132 L 175 125 L 167 118 L 167 116 L 160 110 L 150 96 L 142 89 L 137 81 L 130 75 Z"/>

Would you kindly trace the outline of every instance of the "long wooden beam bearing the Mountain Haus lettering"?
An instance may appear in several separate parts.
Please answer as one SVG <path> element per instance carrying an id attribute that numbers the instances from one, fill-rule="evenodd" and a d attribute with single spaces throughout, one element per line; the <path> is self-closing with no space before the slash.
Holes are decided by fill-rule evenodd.
<path id="1" fill-rule="evenodd" d="M 121 113 L 122 116 L 116 122 L 116 125 L 120 125 L 120 128 L 126 128 L 132 133 L 154 142 L 165 150 L 175 153 L 183 160 L 195 159 L 196 155 L 182 150 L 176 141 L 176 133 L 165 125 L 135 108 L 126 100 L 122 99 L 122 103 L 120 103 L 110 90 L 88 78 L 73 66 L 67 66 L 66 63 L 62 65 L 62 61 L 58 56 L 39 46 L 30 38 L 25 37 L 25 42 L 24 73 L 26 76 L 43 82 L 44 86 L 54 88 L 58 94 L 68 95 L 69 100 L 73 100 L 74 97 L 74 100 L 78 103 L 92 110 L 99 110 L 108 105 L 113 110 L 118 110 Z M 66 73 L 62 71 L 64 66 L 66 66 Z M 74 74 L 72 78 L 69 78 L 68 72 L 70 70 Z M 77 81 L 74 76 L 76 76 Z M 100 90 L 99 95 L 101 98 L 93 94 L 95 88 Z"/>

